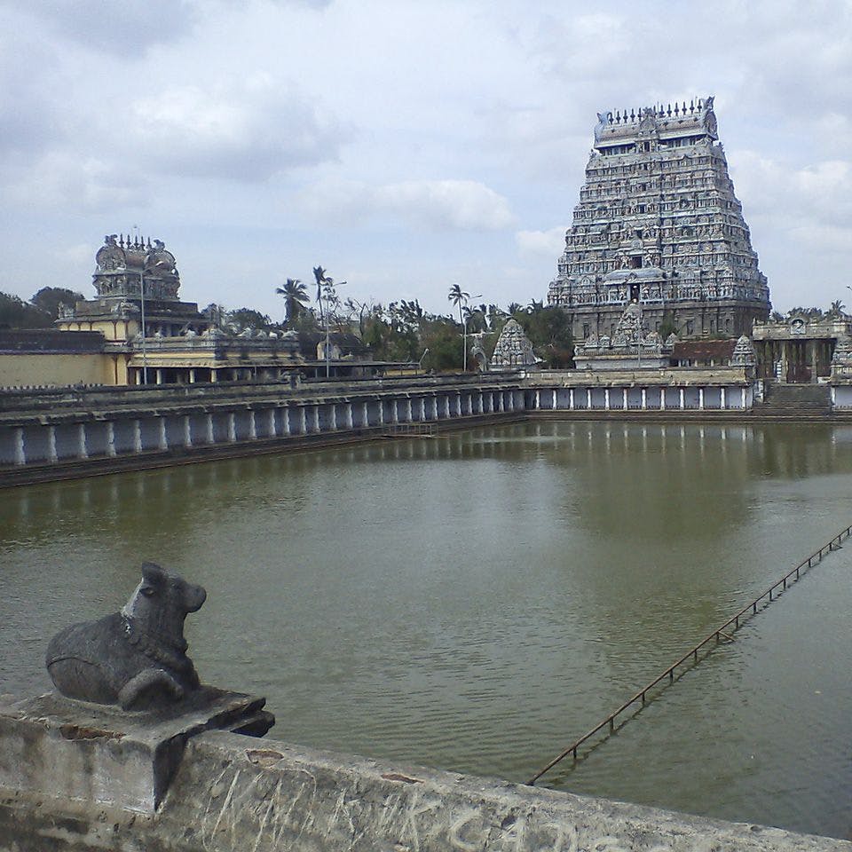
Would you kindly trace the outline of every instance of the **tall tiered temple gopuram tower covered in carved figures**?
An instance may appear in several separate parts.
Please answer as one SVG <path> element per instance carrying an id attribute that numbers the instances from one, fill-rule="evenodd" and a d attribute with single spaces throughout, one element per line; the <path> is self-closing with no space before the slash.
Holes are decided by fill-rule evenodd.
<path id="1" fill-rule="evenodd" d="M 750 334 L 754 319 L 769 317 L 769 288 L 728 175 L 713 98 L 597 117 L 548 292 L 548 303 L 571 318 L 574 340 L 613 335 L 631 302 L 646 331 Z"/>

